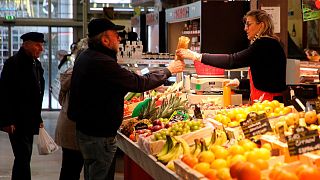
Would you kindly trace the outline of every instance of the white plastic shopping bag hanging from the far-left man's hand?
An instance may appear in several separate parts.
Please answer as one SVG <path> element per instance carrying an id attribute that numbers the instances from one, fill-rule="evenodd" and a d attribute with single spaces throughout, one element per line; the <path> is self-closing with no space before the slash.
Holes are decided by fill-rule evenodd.
<path id="1" fill-rule="evenodd" d="M 39 129 L 38 151 L 40 155 L 51 154 L 59 149 L 51 136 L 44 128 Z"/>

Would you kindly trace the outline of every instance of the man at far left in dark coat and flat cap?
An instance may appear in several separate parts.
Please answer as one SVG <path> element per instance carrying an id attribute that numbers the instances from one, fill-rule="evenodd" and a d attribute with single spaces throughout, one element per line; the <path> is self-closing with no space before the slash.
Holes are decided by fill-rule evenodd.
<path id="1" fill-rule="evenodd" d="M 43 127 L 44 78 L 38 58 L 43 51 L 44 35 L 29 32 L 21 39 L 21 48 L 6 60 L 0 78 L 0 127 L 8 133 L 15 157 L 12 180 L 31 179 L 33 135 Z"/>

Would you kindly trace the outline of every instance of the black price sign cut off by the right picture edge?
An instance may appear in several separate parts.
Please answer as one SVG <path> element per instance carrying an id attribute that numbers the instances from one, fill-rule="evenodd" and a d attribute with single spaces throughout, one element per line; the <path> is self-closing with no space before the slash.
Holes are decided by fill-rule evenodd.
<path id="1" fill-rule="evenodd" d="M 318 130 L 297 127 L 293 134 L 286 136 L 290 156 L 299 155 L 320 149 Z"/>

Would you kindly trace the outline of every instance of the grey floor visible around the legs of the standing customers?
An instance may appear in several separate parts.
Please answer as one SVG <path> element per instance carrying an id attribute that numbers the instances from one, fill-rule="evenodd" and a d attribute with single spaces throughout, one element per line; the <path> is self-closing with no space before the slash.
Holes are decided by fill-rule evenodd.
<path id="1" fill-rule="evenodd" d="M 43 112 L 45 128 L 54 137 L 59 112 Z M 37 150 L 37 136 L 34 138 L 33 155 L 31 160 L 33 180 L 58 180 L 61 167 L 61 149 L 50 155 L 39 155 Z M 123 179 L 122 156 L 117 156 L 115 180 Z M 0 131 L 0 180 L 11 179 L 13 153 L 8 135 Z M 81 177 L 83 180 L 83 176 Z"/>

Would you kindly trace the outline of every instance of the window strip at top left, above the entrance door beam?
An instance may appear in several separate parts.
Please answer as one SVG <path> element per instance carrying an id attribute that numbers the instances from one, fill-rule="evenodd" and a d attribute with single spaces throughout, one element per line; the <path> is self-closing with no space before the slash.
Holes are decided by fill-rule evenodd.
<path id="1" fill-rule="evenodd" d="M 73 18 L 73 0 L 30 0 L 0 1 L 0 17 L 15 18 L 49 18 L 51 8 L 52 18 Z M 50 6 L 50 8 L 49 8 Z"/>

